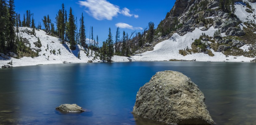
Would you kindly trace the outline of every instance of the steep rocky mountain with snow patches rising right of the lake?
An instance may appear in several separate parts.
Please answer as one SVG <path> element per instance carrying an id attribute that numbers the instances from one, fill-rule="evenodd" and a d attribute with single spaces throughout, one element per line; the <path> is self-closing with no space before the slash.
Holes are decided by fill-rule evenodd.
<path id="1" fill-rule="evenodd" d="M 253 60 L 256 56 L 255 8 L 255 0 L 230 0 L 228 3 L 223 0 L 176 0 L 158 25 L 156 40 L 151 46 L 144 45 L 138 50 L 134 59 Z"/>

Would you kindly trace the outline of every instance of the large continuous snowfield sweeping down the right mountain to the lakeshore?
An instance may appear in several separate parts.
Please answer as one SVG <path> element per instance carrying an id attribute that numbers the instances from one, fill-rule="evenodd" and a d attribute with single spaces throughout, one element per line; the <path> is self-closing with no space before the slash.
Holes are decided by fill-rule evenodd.
<path id="1" fill-rule="evenodd" d="M 196 28 L 194 31 L 185 34 L 184 36 L 180 36 L 179 34 L 175 33 L 173 36 L 166 41 L 160 42 L 154 47 L 153 51 L 147 51 L 142 54 L 138 54 L 133 56 L 133 59 L 136 61 L 169 61 L 170 59 L 177 59 L 177 60 L 194 60 L 196 61 L 250 61 L 253 58 L 248 57 L 236 57 L 234 56 L 226 57 L 223 53 L 213 52 L 215 55 L 214 57 L 210 57 L 208 54 L 204 53 L 193 53 L 187 56 L 183 56 L 179 54 L 179 50 L 186 48 L 187 46 L 191 48 L 193 40 L 198 39 L 202 33 L 206 35 L 213 36 L 213 33 L 218 30 L 211 27 L 207 31 L 201 31 L 200 29 Z"/>

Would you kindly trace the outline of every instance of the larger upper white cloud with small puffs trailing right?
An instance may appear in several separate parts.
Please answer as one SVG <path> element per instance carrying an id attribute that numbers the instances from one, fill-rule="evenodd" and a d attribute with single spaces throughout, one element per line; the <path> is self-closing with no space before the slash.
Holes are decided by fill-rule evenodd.
<path id="1" fill-rule="evenodd" d="M 138 18 L 138 15 L 130 14 L 130 10 L 128 8 L 120 9 L 119 6 L 114 5 L 106 0 L 85 0 L 78 1 L 80 6 L 85 6 L 87 10 L 86 13 L 91 15 L 93 18 L 97 20 L 112 20 L 113 17 L 117 17 L 118 14 L 123 14 L 127 17 Z"/>

